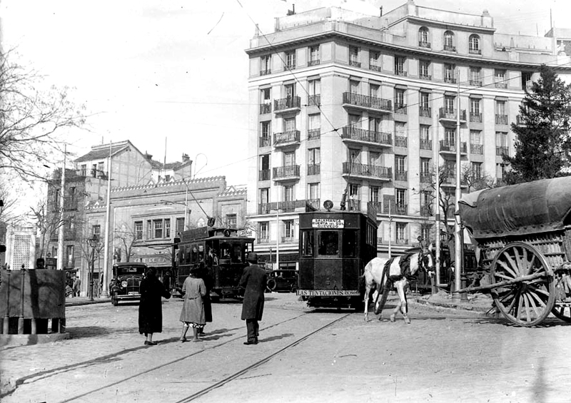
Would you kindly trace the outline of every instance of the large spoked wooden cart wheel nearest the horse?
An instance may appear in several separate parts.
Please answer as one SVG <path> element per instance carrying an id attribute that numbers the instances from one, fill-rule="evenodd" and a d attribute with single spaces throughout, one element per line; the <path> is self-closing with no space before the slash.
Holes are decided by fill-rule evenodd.
<path id="1" fill-rule="evenodd" d="M 535 273 L 545 277 L 503 285 L 491 291 L 495 306 L 516 325 L 539 325 L 550 314 L 555 304 L 555 277 L 541 252 L 527 243 L 505 245 L 492 262 L 492 284 Z"/>

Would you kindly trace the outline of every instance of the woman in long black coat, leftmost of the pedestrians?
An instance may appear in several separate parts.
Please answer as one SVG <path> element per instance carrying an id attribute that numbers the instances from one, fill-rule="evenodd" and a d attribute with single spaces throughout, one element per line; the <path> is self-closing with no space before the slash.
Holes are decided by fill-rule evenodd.
<path id="1" fill-rule="evenodd" d="M 161 297 L 167 300 L 171 293 L 165 290 L 163 284 L 156 278 L 156 270 L 149 267 L 145 278 L 139 285 L 141 302 L 138 305 L 138 332 L 145 335 L 145 345 L 154 346 L 153 333 L 163 330 L 163 307 Z"/>

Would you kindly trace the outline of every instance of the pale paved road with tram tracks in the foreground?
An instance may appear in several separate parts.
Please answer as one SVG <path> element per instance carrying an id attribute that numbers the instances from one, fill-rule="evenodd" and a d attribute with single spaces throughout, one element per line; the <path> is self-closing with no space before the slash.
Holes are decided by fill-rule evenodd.
<path id="1" fill-rule="evenodd" d="M 313 311 L 266 295 L 261 343 L 241 305 L 213 306 L 203 342 L 178 342 L 181 301 L 143 346 L 136 305 L 69 307 L 70 340 L 0 351 L 2 402 L 568 402 L 571 326 L 534 329 L 411 307 L 411 325 Z M 371 315 L 374 317 L 374 315 Z M 385 317 L 388 317 L 386 312 Z"/>

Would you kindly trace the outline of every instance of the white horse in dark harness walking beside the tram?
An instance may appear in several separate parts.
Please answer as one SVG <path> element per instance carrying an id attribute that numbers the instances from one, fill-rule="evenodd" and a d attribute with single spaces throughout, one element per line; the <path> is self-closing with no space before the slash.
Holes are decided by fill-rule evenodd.
<path id="1" fill-rule="evenodd" d="M 403 273 L 401 269 L 401 262 L 409 259 L 410 272 Z M 429 275 L 434 274 L 435 264 L 433 256 L 433 248 L 430 245 L 428 248 L 413 248 L 406 252 L 403 256 L 397 256 L 391 259 L 386 257 L 373 257 L 373 260 L 365 266 L 365 321 L 368 320 L 368 307 L 369 307 L 369 294 L 376 285 L 373 299 L 375 300 L 375 315 L 380 314 L 385 305 L 388 290 L 394 286 L 398 292 L 399 301 L 393 315 L 390 315 L 390 321 L 395 322 L 395 316 L 400 310 L 405 318 L 405 323 L 410 323 L 408 318 L 408 302 L 406 300 L 406 290 L 409 282 L 408 277 L 411 277 L 418 272 L 419 269 L 425 270 Z M 379 296 L 382 295 L 379 302 Z M 380 306 L 380 308 L 379 308 Z M 379 317 L 380 320 L 380 317 Z"/>

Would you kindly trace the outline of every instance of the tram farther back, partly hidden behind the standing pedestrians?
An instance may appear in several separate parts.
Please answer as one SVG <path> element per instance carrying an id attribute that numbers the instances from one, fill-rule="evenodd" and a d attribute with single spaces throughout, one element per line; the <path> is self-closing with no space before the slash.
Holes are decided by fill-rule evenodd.
<path id="1" fill-rule="evenodd" d="M 181 293 L 191 268 L 203 264 L 212 279 L 211 298 L 241 297 L 240 279 L 246 257 L 253 252 L 254 238 L 233 228 L 201 227 L 183 231 L 175 244 L 176 290 Z"/>

